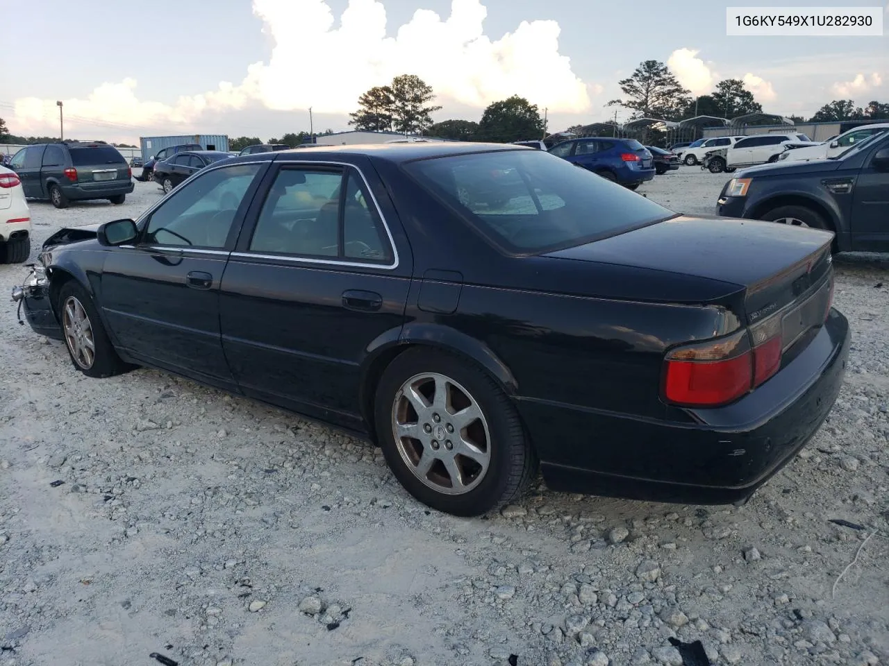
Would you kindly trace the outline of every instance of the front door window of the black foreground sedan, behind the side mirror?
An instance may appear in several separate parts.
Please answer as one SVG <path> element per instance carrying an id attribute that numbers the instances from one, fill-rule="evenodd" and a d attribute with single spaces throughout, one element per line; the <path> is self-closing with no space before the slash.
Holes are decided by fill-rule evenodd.
<path id="1" fill-rule="evenodd" d="M 151 213 L 142 243 L 220 250 L 259 164 L 211 170 L 176 190 Z"/>

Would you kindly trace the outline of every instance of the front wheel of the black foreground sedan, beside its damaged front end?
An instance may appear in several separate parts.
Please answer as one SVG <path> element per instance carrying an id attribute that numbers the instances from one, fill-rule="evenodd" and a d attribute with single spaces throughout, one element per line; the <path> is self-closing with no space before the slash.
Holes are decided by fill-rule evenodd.
<path id="1" fill-rule="evenodd" d="M 59 291 L 58 312 L 65 346 L 74 367 L 87 377 L 112 377 L 128 369 L 102 326 L 92 297 L 75 281 Z"/>

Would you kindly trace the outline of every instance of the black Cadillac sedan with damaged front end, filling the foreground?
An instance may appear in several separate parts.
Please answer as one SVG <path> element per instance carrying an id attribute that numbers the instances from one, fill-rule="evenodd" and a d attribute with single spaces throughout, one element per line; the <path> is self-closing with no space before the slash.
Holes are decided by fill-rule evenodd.
<path id="1" fill-rule="evenodd" d="M 538 464 L 559 490 L 733 503 L 842 384 L 832 237 L 681 216 L 529 148 L 324 147 L 63 229 L 13 298 L 89 377 L 166 369 L 367 436 L 441 511 Z"/>

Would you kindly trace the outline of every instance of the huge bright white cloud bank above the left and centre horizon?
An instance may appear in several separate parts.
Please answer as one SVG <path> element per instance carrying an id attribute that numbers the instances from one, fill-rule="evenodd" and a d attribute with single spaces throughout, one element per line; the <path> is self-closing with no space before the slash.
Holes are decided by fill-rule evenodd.
<path id="1" fill-rule="evenodd" d="M 380 0 L 349 0 L 338 28 L 324 0 L 253 0 L 252 6 L 273 47 L 268 62 L 247 67 L 242 83 L 223 82 L 172 104 L 140 101 L 131 78 L 102 83 L 85 99 L 63 100 L 71 125 L 93 120 L 184 129 L 206 112 L 252 103 L 347 114 L 362 92 L 399 74 L 419 75 L 440 104 L 452 100 L 469 107 L 518 94 L 550 112 L 580 113 L 589 109 L 590 93 L 601 91 L 588 88 L 559 53 L 556 21 L 522 21 L 492 40 L 483 31 L 487 10 L 481 0 L 453 0 L 445 20 L 418 10 L 393 37 L 386 36 Z M 49 130 L 57 114 L 55 99 L 17 99 L 15 126 L 20 132 Z"/>

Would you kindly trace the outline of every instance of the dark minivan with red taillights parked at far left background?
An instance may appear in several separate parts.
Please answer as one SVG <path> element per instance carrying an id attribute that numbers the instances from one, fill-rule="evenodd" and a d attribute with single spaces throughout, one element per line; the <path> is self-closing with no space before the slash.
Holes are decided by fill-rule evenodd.
<path id="1" fill-rule="evenodd" d="M 135 186 L 124 155 L 101 141 L 24 147 L 12 158 L 11 167 L 19 174 L 26 197 L 49 199 L 56 208 L 90 199 L 120 204 Z"/>

